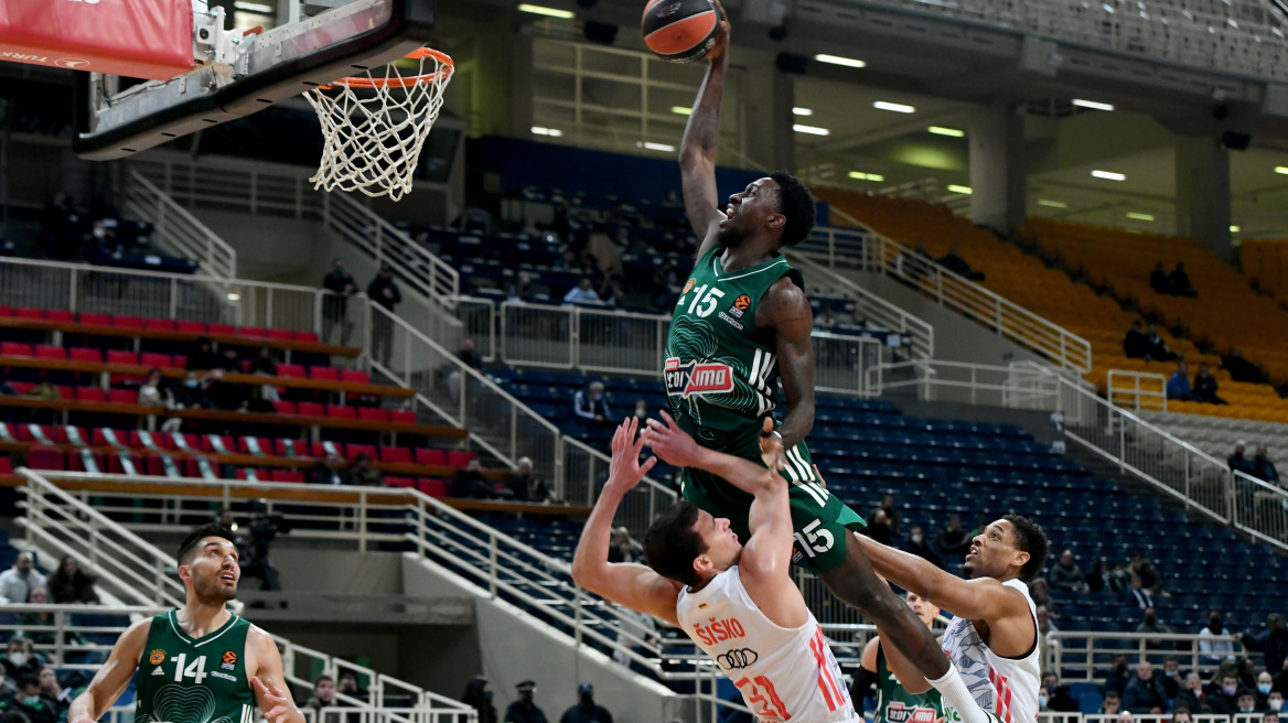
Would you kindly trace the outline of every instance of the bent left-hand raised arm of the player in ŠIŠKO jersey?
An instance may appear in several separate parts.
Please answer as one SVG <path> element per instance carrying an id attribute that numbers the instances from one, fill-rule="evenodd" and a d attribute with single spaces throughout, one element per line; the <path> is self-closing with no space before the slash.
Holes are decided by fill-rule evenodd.
<path id="1" fill-rule="evenodd" d="M 650 457 L 643 466 L 639 463 L 644 439 L 643 435 L 639 440 L 635 439 L 638 428 L 639 419 L 631 417 L 613 435 L 608 484 L 581 531 L 577 553 L 572 560 L 572 579 L 605 599 L 679 625 L 675 602 L 680 594 L 680 583 L 668 580 L 644 565 L 608 561 L 613 515 L 617 513 L 622 497 L 657 464 L 656 457 Z"/>

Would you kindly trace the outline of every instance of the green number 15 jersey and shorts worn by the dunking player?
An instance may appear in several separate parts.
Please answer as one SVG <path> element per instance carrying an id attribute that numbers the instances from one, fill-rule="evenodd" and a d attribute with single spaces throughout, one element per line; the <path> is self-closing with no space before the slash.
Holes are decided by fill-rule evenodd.
<path id="1" fill-rule="evenodd" d="M 760 461 L 760 434 L 778 405 L 778 359 L 774 329 L 756 328 L 756 309 L 778 279 L 804 288 L 787 259 L 773 256 L 748 269 L 725 271 L 724 250 L 703 253 L 684 284 L 666 337 L 665 378 L 671 417 L 698 444 Z M 863 518 L 832 497 L 814 473 L 801 441 L 784 450 L 796 547 L 792 562 L 826 572 L 845 560 L 846 530 Z M 747 540 L 751 495 L 702 470 L 681 473 L 684 499 L 715 517 L 728 517 Z"/>

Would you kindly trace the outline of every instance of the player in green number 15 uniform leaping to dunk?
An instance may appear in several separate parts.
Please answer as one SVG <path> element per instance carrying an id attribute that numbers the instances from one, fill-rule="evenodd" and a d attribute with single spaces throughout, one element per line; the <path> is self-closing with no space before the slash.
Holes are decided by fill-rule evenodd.
<path id="1" fill-rule="evenodd" d="M 733 194 L 724 212 L 717 208 L 720 102 L 729 69 L 729 26 L 719 12 L 723 32 L 707 55 L 710 67 L 680 148 L 684 208 L 701 242 L 666 342 L 671 416 L 702 445 L 755 462 L 761 419 L 777 407 L 782 383 L 787 414 L 777 434 L 791 482 L 792 561 L 871 616 L 891 646 L 961 702 L 957 708 L 969 723 L 978 723 L 983 711 L 971 714 L 970 696 L 934 637 L 876 578 L 853 539 L 849 530 L 862 527 L 863 520 L 828 494 L 811 468 L 804 440 L 814 426 L 813 314 L 800 273 L 779 251 L 804 241 L 814 226 L 814 198 L 778 171 Z M 684 470 L 683 484 L 687 500 L 728 517 L 733 531 L 747 539 L 751 495 L 697 468 Z"/>

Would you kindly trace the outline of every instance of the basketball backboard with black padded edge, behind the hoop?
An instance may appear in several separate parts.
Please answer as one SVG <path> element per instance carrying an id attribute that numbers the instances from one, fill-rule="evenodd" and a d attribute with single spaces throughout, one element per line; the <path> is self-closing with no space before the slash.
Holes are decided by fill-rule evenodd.
<path id="1" fill-rule="evenodd" d="M 318 1 L 318 0 L 316 0 Z M 77 72 L 77 156 L 129 157 L 204 127 L 249 116 L 310 87 L 392 63 L 430 42 L 434 0 L 326 0 L 308 17 L 300 0 L 232 3 L 277 12 L 267 31 L 227 27 L 223 6 L 193 0 L 196 68 L 137 85 Z M 312 8 L 317 8 L 313 5 Z"/>

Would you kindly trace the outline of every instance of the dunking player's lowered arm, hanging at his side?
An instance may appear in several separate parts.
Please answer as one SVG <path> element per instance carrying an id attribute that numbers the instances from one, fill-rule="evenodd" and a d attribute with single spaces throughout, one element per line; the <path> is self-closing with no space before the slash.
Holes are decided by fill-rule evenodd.
<path id="1" fill-rule="evenodd" d="M 791 449 L 814 428 L 814 313 L 809 298 L 792 279 L 783 277 L 765 292 L 756 310 L 756 325 L 773 327 L 778 369 L 782 372 L 787 417 L 778 434 Z"/>

